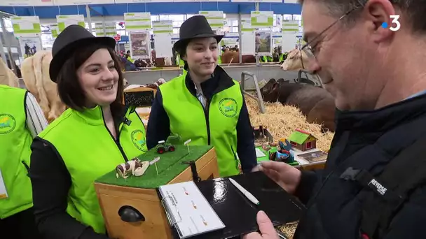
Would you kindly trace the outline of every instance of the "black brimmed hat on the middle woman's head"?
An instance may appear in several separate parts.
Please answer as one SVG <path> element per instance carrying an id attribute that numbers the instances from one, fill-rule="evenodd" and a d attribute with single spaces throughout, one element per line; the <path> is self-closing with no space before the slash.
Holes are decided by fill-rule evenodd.
<path id="1" fill-rule="evenodd" d="M 216 38 L 217 43 L 224 38 L 224 35 L 214 34 L 212 27 L 210 27 L 209 22 L 203 15 L 195 15 L 189 17 L 184 23 L 181 24 L 179 30 L 179 41 L 174 43 L 174 50 L 181 48 L 183 43 L 186 40 L 193 38 L 206 38 L 214 37 Z"/>

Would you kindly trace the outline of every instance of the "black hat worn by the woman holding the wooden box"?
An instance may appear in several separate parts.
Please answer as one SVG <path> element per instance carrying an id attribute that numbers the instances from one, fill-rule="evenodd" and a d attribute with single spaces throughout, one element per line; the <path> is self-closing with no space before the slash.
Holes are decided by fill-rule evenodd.
<path id="1" fill-rule="evenodd" d="M 57 75 L 71 53 L 78 50 L 79 47 L 88 44 L 100 44 L 114 49 L 116 47 L 116 40 L 111 37 L 95 37 L 80 25 L 69 25 L 57 36 L 55 42 L 53 42 L 53 59 L 50 61 L 49 68 L 50 79 L 56 82 Z"/>

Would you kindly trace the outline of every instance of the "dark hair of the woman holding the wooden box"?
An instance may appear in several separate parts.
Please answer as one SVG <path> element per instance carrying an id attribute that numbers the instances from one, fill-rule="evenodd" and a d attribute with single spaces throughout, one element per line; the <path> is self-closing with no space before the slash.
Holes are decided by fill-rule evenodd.
<path id="1" fill-rule="evenodd" d="M 57 75 L 57 91 L 59 96 L 69 108 L 81 111 L 85 108 L 85 95 L 78 81 L 77 69 L 97 50 L 107 49 L 114 61 L 114 68 L 118 72 L 117 98 L 111 103 L 111 113 L 116 115 L 123 107 L 123 73 L 121 73 L 120 61 L 114 54 L 114 50 L 105 45 L 84 45 L 65 61 Z"/>

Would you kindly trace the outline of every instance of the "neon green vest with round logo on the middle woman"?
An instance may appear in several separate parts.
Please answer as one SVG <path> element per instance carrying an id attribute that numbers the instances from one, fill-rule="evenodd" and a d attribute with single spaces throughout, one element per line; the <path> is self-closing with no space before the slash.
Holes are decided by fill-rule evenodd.
<path id="1" fill-rule="evenodd" d="M 170 119 L 171 133 L 191 139 L 192 145 L 213 145 L 221 177 L 237 175 L 237 122 L 242 106 L 240 84 L 214 94 L 205 112 L 185 85 L 186 73 L 160 85 L 163 107 Z"/>

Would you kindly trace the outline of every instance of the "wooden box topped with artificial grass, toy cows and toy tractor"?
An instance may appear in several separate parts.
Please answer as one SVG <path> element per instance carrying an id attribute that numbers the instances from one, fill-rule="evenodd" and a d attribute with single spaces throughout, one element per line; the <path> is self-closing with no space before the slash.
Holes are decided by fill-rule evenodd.
<path id="1" fill-rule="evenodd" d="M 190 142 L 184 144 L 179 136 L 170 136 L 95 181 L 111 238 L 172 238 L 156 189 L 165 184 L 219 178 L 213 147 Z"/>

